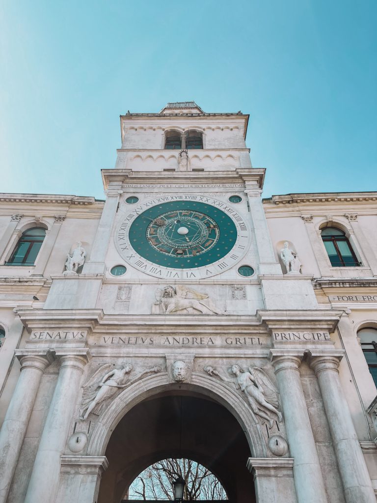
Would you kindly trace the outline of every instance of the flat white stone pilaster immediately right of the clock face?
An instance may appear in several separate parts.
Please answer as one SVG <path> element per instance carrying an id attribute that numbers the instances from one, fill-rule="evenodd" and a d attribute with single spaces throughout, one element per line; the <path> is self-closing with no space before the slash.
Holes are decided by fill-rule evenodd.
<path id="1" fill-rule="evenodd" d="M 281 267 L 276 262 L 273 253 L 271 238 L 267 226 L 266 215 L 264 213 L 262 200 L 260 198 L 260 189 L 245 190 L 250 206 L 250 218 L 255 233 L 255 242 L 259 256 L 260 274 L 278 274 L 281 275 Z"/>

